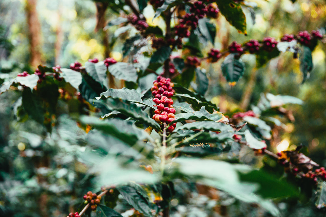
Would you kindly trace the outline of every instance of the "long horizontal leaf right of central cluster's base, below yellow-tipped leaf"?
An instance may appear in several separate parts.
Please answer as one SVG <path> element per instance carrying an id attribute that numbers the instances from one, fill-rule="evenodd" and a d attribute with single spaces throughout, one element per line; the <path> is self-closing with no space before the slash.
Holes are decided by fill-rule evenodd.
<path id="1" fill-rule="evenodd" d="M 211 130 L 211 131 L 230 131 L 234 132 L 233 128 L 230 125 L 220 122 L 214 121 L 201 121 L 201 122 L 193 122 L 193 123 L 186 123 L 182 126 L 178 126 L 175 130 Z"/>

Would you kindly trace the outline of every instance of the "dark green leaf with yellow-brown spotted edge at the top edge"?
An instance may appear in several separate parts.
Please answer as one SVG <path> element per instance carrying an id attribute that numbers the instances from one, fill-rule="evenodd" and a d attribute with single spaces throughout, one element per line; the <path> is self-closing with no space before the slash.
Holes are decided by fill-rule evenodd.
<path id="1" fill-rule="evenodd" d="M 246 20 L 241 5 L 232 0 L 215 0 L 221 14 L 239 33 L 247 34 Z"/>

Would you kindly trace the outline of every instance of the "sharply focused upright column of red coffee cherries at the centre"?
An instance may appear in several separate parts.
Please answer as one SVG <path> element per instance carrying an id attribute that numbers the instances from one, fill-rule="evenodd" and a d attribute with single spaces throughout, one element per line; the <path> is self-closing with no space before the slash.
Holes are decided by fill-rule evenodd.
<path id="1" fill-rule="evenodd" d="M 164 78 L 162 76 L 157 76 L 157 79 L 153 82 L 153 87 L 151 88 L 152 95 L 154 96 L 153 102 L 156 104 L 157 109 L 155 109 L 155 114 L 153 119 L 157 123 L 166 123 L 170 124 L 175 120 L 175 108 L 173 108 L 173 100 L 171 97 L 174 94 L 173 86 L 171 79 Z M 170 125 L 167 130 L 172 132 L 176 126 L 176 123 Z"/>

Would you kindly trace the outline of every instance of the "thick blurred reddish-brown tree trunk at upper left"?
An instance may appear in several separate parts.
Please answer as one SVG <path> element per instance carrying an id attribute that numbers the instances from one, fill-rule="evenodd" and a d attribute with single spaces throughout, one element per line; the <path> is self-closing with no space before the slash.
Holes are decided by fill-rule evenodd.
<path id="1" fill-rule="evenodd" d="M 28 25 L 30 46 L 30 64 L 33 67 L 41 64 L 41 24 L 37 17 L 37 0 L 26 0 L 25 13 Z"/>

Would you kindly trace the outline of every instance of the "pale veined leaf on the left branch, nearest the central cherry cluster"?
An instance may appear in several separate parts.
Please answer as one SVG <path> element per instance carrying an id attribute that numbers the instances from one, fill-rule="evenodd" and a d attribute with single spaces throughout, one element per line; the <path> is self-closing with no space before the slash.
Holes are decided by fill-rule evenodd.
<path id="1" fill-rule="evenodd" d="M 115 63 L 110 65 L 108 70 L 111 75 L 120 80 L 136 82 L 138 78 L 137 70 L 132 64 Z"/>

